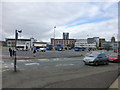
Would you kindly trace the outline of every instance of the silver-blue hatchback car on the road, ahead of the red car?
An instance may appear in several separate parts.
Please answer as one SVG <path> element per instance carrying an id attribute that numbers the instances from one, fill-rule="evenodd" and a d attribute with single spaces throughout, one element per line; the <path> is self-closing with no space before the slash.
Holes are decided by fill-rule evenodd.
<path id="1" fill-rule="evenodd" d="M 105 53 L 100 52 L 91 52 L 84 59 L 83 62 L 85 65 L 100 65 L 100 64 L 109 64 L 109 59 Z"/>

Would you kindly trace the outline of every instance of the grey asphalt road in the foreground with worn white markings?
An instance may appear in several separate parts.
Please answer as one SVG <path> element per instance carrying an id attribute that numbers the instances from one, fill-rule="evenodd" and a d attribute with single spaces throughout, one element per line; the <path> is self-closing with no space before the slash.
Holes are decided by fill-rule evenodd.
<path id="1" fill-rule="evenodd" d="M 87 66 L 83 57 L 4 60 L 3 88 L 108 88 L 118 76 L 118 63 Z"/>

